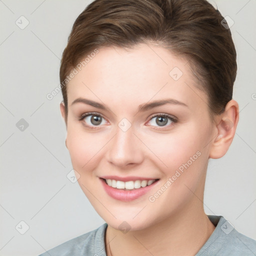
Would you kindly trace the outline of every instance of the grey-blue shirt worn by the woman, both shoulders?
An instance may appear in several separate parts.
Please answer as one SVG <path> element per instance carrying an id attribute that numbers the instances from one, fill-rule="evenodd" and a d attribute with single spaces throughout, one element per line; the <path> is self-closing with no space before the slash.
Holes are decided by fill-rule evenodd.
<path id="1" fill-rule="evenodd" d="M 209 239 L 195 256 L 256 255 L 256 241 L 237 232 L 222 216 L 208 215 L 216 226 Z M 107 223 L 97 229 L 68 240 L 38 256 L 106 256 L 105 231 Z"/>

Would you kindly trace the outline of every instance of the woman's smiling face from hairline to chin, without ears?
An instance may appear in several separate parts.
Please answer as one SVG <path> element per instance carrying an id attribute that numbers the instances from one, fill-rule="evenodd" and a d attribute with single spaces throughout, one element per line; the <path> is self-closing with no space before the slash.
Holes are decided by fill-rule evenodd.
<path id="1" fill-rule="evenodd" d="M 203 195 L 214 125 L 187 62 L 160 46 L 101 48 L 67 84 L 78 183 L 116 229 L 182 214 Z"/>

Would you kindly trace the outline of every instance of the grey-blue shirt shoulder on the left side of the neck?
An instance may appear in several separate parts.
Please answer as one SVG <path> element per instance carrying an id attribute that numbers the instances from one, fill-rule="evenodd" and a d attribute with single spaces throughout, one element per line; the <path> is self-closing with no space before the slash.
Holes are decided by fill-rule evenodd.
<path id="1" fill-rule="evenodd" d="M 103 256 L 105 255 L 104 235 L 106 227 L 107 224 L 104 223 L 98 228 L 61 243 L 38 256 L 94 256 L 96 250 L 98 256 Z"/>

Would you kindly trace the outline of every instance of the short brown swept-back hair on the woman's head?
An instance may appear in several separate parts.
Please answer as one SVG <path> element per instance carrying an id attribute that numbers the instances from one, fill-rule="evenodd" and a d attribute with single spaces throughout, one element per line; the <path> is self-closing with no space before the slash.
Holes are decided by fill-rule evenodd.
<path id="1" fill-rule="evenodd" d="M 94 0 L 76 18 L 60 65 L 60 83 L 95 48 L 153 42 L 184 55 L 218 114 L 232 99 L 236 51 L 230 29 L 206 0 Z M 67 88 L 61 87 L 67 114 Z"/>

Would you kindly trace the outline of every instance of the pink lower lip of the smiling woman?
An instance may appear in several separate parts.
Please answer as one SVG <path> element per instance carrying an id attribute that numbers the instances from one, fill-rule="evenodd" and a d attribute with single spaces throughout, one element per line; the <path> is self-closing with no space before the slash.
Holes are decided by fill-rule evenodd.
<path id="1" fill-rule="evenodd" d="M 111 196 L 112 198 L 120 200 L 120 201 L 135 200 L 138 197 L 140 197 L 141 195 L 148 192 L 158 182 L 158 180 L 156 180 L 155 182 L 153 182 L 149 186 L 135 188 L 135 189 L 132 189 L 132 190 L 124 190 L 124 189 L 118 189 L 118 188 L 114 188 L 114 187 L 111 187 L 111 186 L 107 185 L 105 180 L 102 179 L 102 178 L 100 178 L 100 181 L 101 181 L 101 183 L 103 185 L 103 188 L 105 189 L 106 193 L 109 196 Z"/>

